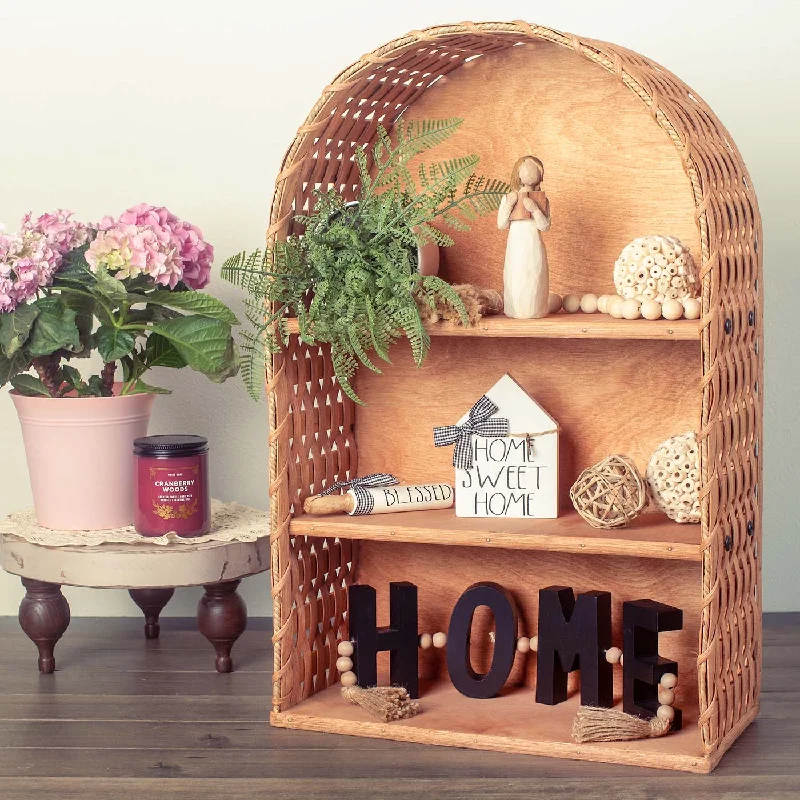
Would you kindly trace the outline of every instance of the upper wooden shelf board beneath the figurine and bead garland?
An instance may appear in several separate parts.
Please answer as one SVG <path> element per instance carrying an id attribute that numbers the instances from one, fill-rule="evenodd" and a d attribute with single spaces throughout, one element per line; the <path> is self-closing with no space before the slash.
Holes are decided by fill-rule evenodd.
<path id="1" fill-rule="evenodd" d="M 289 333 L 299 333 L 297 319 L 287 320 Z M 699 341 L 700 323 L 680 319 L 613 319 L 607 314 L 567 314 L 560 312 L 544 319 L 484 317 L 477 325 L 465 327 L 449 322 L 425 326 L 431 336 L 492 336 L 535 339 L 662 339 Z"/>

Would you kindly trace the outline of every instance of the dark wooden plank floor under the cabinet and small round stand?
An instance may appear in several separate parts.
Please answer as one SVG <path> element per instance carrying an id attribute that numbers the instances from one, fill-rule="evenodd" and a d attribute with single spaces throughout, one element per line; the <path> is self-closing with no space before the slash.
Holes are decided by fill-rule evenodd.
<path id="1" fill-rule="evenodd" d="M 139 620 L 77 619 L 40 676 L 0 618 L 0 798 L 799 798 L 800 614 L 765 623 L 761 715 L 697 776 L 270 728 L 266 620 L 217 675 L 193 621 L 147 642 Z"/>

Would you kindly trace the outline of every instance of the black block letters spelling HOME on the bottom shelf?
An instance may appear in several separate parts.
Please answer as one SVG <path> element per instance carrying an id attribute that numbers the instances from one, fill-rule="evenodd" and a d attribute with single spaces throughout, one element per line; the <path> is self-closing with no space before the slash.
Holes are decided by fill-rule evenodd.
<path id="1" fill-rule="evenodd" d="M 377 626 L 375 589 L 355 584 L 348 590 L 353 671 L 361 687 L 378 683 L 377 656 L 391 651 L 389 681 L 419 697 L 419 631 L 417 587 L 389 584 L 389 627 Z M 472 668 L 472 618 L 480 606 L 494 615 L 495 641 L 489 671 Z M 666 673 L 678 674 L 674 661 L 658 654 L 658 634 L 681 630 L 683 612 L 655 600 L 625 601 L 623 628 L 623 710 L 650 718 L 660 705 L 658 686 Z M 495 697 L 503 688 L 517 655 L 518 613 L 514 597 L 496 583 L 475 583 L 453 607 L 447 630 L 447 671 L 453 686 L 467 697 Z M 556 705 L 567 699 L 567 676 L 580 670 L 581 703 L 614 705 L 613 666 L 605 652 L 611 647 L 611 593 L 583 592 L 577 597 L 566 586 L 539 590 L 536 652 L 536 702 Z M 672 729 L 681 727 L 675 710 Z"/>

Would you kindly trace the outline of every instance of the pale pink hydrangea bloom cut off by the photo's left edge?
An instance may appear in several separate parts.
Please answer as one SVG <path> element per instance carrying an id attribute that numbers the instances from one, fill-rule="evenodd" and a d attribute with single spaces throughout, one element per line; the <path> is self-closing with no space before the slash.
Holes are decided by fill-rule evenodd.
<path id="1" fill-rule="evenodd" d="M 13 311 L 35 298 L 41 287 L 49 286 L 61 258 L 40 231 L 7 235 L 0 226 L 0 313 Z"/>

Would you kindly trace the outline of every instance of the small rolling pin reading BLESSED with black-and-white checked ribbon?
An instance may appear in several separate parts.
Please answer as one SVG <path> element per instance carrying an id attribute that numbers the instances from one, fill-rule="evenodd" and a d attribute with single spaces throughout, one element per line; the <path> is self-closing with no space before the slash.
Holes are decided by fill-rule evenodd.
<path id="1" fill-rule="evenodd" d="M 360 496 L 360 499 L 359 499 Z M 449 483 L 421 483 L 409 486 L 382 486 L 379 489 L 348 489 L 344 494 L 307 497 L 306 514 L 392 514 L 396 511 L 423 511 L 450 508 L 455 492 Z"/>

